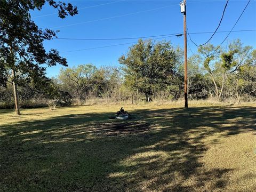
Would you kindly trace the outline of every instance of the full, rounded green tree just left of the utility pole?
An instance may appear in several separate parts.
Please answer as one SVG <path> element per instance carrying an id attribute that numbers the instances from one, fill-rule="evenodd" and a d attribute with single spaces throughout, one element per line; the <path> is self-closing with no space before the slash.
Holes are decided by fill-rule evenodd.
<path id="1" fill-rule="evenodd" d="M 126 81 L 134 89 L 152 100 L 154 91 L 168 85 L 175 74 L 177 55 L 170 42 L 142 41 L 130 47 L 129 52 L 119 58 L 124 65 Z"/>

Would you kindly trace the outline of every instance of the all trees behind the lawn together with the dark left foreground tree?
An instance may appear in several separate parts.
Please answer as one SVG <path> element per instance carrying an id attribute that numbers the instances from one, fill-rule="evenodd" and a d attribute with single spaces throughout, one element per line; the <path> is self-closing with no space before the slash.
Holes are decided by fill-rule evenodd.
<path id="1" fill-rule="evenodd" d="M 58 50 L 45 50 L 43 42 L 59 30 L 39 28 L 31 10 L 49 4 L 65 19 L 78 14 L 71 3 L 42 1 L 1 1 L 0 4 L 0 107 L 22 107 L 84 103 L 90 98 L 151 102 L 183 97 L 183 51 L 170 42 L 142 41 L 119 58 L 121 67 L 96 68 L 92 64 L 64 68 L 57 78 L 47 78 L 46 67 L 68 67 Z M 219 49 L 220 48 L 220 49 Z M 227 47 L 201 46 L 189 58 L 189 98 L 255 100 L 255 55 L 239 39 Z M 12 87 L 13 86 L 13 87 Z M 17 88 L 18 87 L 18 88 Z M 18 90 L 18 93 L 17 91 Z M 14 93 L 13 93 L 14 92 Z M 19 100 L 16 96 L 19 96 Z M 15 99 L 14 99 L 15 98 Z"/>

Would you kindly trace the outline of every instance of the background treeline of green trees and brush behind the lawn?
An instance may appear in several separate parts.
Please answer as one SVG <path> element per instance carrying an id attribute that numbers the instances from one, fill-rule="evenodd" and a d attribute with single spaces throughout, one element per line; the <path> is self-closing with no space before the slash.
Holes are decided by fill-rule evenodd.
<path id="1" fill-rule="evenodd" d="M 188 59 L 189 99 L 236 102 L 256 99 L 256 50 L 239 39 L 227 47 L 199 47 Z M 119 58 L 120 67 L 92 64 L 62 68 L 57 78 L 17 73 L 21 107 L 84 105 L 95 99 L 130 103 L 183 97 L 183 50 L 170 42 L 139 40 Z M 11 74 L 1 83 L 1 108 L 13 108 Z M 91 103 L 93 104 L 93 102 Z"/>

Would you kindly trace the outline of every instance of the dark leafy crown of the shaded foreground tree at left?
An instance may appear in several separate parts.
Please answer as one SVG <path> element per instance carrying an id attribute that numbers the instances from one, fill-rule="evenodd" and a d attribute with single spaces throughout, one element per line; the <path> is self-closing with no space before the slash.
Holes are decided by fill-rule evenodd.
<path id="1" fill-rule="evenodd" d="M 0 81 L 6 86 L 6 74 L 12 70 L 13 85 L 17 84 L 21 75 L 27 75 L 36 82 L 45 76 L 46 64 L 51 67 L 57 65 L 67 66 L 65 58 L 60 57 L 57 50 L 46 52 L 44 40 L 50 40 L 56 33 L 50 29 L 40 29 L 30 17 L 30 10 L 41 10 L 45 3 L 58 9 L 59 17 L 65 18 L 68 14 L 78 13 L 77 7 L 70 3 L 55 2 L 53 0 L 2 0 L 0 3 Z M 18 75 L 20 74 L 20 75 Z"/>

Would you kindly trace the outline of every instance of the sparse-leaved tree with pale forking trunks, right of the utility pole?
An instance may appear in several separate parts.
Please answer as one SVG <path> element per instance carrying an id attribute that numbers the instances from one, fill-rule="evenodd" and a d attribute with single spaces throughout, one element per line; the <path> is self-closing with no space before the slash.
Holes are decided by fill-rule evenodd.
<path id="1" fill-rule="evenodd" d="M 216 54 L 210 55 L 213 50 L 215 50 L 215 47 L 212 44 L 198 48 L 198 52 L 205 57 L 203 65 L 214 84 L 215 97 L 220 100 L 225 89 L 235 87 L 236 98 L 239 100 L 238 87 L 243 87 L 241 86 L 243 81 L 239 79 L 238 73 L 241 72 L 242 66 L 253 61 L 252 47 L 243 46 L 241 41 L 236 39 L 230 42 L 227 48 L 222 47 Z M 236 82 L 235 86 L 234 82 Z M 230 83 L 233 85 L 230 85 Z M 227 86 L 227 84 L 230 86 Z M 230 94 L 233 95 L 233 93 Z"/>

